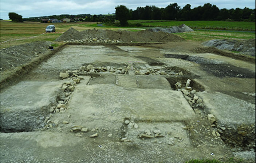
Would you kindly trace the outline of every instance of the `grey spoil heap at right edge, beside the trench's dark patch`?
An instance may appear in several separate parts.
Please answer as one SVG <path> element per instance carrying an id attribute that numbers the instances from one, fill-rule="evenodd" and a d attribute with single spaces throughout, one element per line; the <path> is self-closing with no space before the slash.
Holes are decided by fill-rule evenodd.
<path id="1" fill-rule="evenodd" d="M 228 40 L 213 39 L 202 43 L 205 46 L 216 47 L 221 50 L 238 51 L 245 55 L 255 56 L 255 39 Z"/>

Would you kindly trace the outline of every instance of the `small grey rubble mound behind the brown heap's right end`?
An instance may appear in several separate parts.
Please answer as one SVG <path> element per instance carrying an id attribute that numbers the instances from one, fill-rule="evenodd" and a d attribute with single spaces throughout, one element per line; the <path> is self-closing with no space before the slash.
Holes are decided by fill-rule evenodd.
<path id="1" fill-rule="evenodd" d="M 185 24 L 182 24 L 180 26 L 173 26 L 171 28 L 150 28 L 149 29 L 152 32 L 166 32 L 166 33 L 178 33 L 178 32 L 192 32 L 193 29 L 189 28 Z"/>

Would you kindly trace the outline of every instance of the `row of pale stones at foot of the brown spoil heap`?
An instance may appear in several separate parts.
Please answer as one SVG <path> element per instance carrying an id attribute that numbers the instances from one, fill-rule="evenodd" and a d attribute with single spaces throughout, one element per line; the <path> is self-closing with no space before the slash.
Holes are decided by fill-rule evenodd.
<path id="1" fill-rule="evenodd" d="M 117 40 L 117 39 L 103 39 L 103 38 L 86 38 L 86 39 L 71 39 L 68 41 L 63 41 L 63 42 L 77 42 L 77 43 L 120 43 L 121 41 Z"/>

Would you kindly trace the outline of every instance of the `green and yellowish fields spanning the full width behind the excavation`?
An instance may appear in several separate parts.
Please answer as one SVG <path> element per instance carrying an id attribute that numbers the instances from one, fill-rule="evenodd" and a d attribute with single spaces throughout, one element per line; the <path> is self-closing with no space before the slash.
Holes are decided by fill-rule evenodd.
<path id="1" fill-rule="evenodd" d="M 150 22 L 149 22 L 150 21 Z M 254 29 L 255 31 L 255 23 L 252 22 L 229 22 L 229 21 L 168 21 L 161 22 L 155 20 L 129 20 L 131 24 L 141 23 L 144 25 L 154 25 L 154 26 L 177 26 L 181 24 L 186 24 L 193 28 L 194 32 L 184 32 L 184 33 L 175 33 L 176 35 L 181 36 L 187 40 L 192 41 L 207 41 L 210 39 L 251 39 L 255 38 L 255 33 L 248 32 L 248 29 Z M 217 23 L 220 22 L 220 23 Z M 220 31 L 220 30 L 197 30 L 197 29 L 214 29 L 217 26 L 226 26 L 233 28 L 237 25 L 237 29 L 245 31 Z M 21 43 L 29 43 L 34 41 L 54 41 L 58 38 L 62 33 L 67 31 L 70 27 L 75 28 L 78 31 L 82 31 L 85 29 L 112 29 L 112 30 L 131 30 L 138 31 L 146 29 L 147 27 L 143 26 L 134 26 L 134 27 L 117 27 L 117 26 L 98 26 L 96 22 L 77 22 L 77 23 L 55 23 L 56 33 L 45 33 L 45 28 L 47 25 L 40 22 L 24 22 L 24 23 L 16 23 L 11 21 L 0 21 L 0 47 L 5 48 L 13 45 L 19 45 Z"/>

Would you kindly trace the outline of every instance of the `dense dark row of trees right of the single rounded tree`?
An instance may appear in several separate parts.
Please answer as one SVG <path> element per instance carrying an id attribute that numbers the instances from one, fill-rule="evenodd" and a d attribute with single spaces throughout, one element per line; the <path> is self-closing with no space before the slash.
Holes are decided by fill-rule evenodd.
<path id="1" fill-rule="evenodd" d="M 165 8 L 155 6 L 137 7 L 130 10 L 132 20 L 233 20 L 233 21 L 255 21 L 255 9 L 219 9 L 216 5 L 206 3 L 191 9 L 187 4 L 183 8 L 177 3 L 169 4 Z"/>

